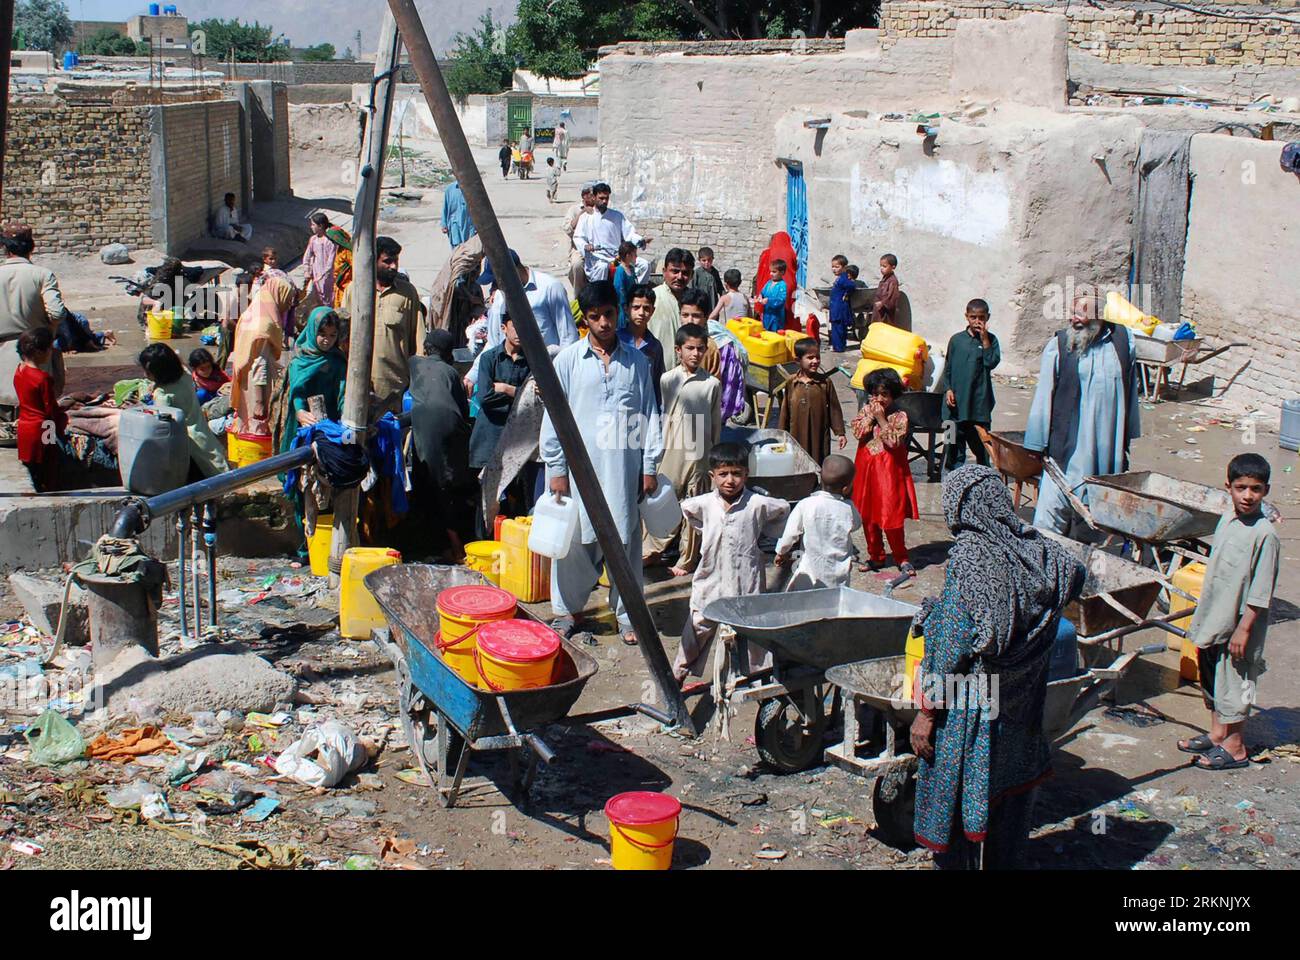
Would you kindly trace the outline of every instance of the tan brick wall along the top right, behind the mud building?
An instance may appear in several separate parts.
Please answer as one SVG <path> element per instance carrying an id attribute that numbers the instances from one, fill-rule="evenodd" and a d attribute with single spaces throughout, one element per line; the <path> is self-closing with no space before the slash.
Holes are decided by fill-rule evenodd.
<path id="1" fill-rule="evenodd" d="M 1277 7 L 1247 7 L 1210 3 L 1225 13 L 1277 13 Z M 1070 21 L 1070 44 L 1113 64 L 1150 65 L 1300 65 L 1300 23 L 1206 17 L 1152 4 L 1106 4 L 1105 9 L 1083 3 L 1027 0 L 1015 4 L 997 0 L 942 0 L 915 3 L 885 0 L 880 12 L 881 44 L 904 36 L 948 36 L 958 20 L 1010 20 L 1028 12 L 1065 13 Z"/>

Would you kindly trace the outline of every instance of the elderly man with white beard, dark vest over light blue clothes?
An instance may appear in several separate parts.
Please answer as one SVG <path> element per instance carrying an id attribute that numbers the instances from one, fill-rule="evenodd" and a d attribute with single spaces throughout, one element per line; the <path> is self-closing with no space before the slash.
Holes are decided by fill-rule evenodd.
<path id="1" fill-rule="evenodd" d="M 1128 470 L 1128 444 L 1141 434 L 1132 332 L 1101 319 L 1096 297 L 1076 297 L 1070 327 L 1043 349 L 1024 446 L 1060 464 L 1070 485 Z M 1076 492 L 1087 502 L 1083 490 Z M 1034 526 L 1070 536 L 1082 523 L 1048 477 Z"/>

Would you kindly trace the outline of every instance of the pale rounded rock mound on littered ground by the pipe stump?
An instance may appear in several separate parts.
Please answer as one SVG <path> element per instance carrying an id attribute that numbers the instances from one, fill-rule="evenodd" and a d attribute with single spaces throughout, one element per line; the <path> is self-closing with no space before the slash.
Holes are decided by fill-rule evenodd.
<path id="1" fill-rule="evenodd" d="M 240 644 L 204 644 L 174 657 L 153 658 L 131 647 L 96 671 L 100 706 L 126 710 L 131 697 L 151 700 L 162 713 L 195 710 L 269 712 L 292 701 L 298 682 Z"/>

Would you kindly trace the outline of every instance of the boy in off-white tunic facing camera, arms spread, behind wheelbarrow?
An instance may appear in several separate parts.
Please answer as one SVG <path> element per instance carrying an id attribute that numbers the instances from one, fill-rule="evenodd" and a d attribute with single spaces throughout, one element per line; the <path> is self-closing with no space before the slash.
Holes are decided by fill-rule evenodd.
<path id="1" fill-rule="evenodd" d="M 718 624 L 705 619 L 705 607 L 722 597 L 767 591 L 767 565 L 758 541 L 764 533 L 775 537 L 790 510 L 784 500 L 746 489 L 749 450 L 744 444 L 718 444 L 708 454 L 708 475 L 712 493 L 681 505 L 686 523 L 699 531 L 701 550 L 690 585 L 690 615 L 672 663 L 679 683 L 688 674 L 703 675 L 708 663 Z M 751 658 L 754 654 L 751 650 Z"/>

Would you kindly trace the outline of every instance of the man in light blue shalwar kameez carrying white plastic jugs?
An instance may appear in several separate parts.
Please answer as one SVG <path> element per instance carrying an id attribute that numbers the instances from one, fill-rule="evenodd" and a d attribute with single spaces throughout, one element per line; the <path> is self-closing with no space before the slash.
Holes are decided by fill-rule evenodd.
<path id="1" fill-rule="evenodd" d="M 589 333 L 555 356 L 555 375 L 568 399 L 582 444 L 592 458 L 597 480 L 614 515 L 624 554 L 640 584 L 641 509 L 644 494 L 654 493 L 663 437 L 659 403 L 650 376 L 650 360 L 630 343 L 619 340 L 618 295 L 614 284 L 598 280 L 578 294 L 578 307 Z M 551 607 L 562 633 L 572 633 L 577 615 L 601 576 L 601 545 L 582 497 L 569 485 L 568 459 L 560 446 L 550 411 L 542 419 L 541 453 L 546 480 L 556 497 L 572 493 L 578 506 L 580 541 L 568 555 L 551 561 Z M 627 644 L 636 643 L 632 622 L 616 588 L 610 588 L 619 631 Z"/>

